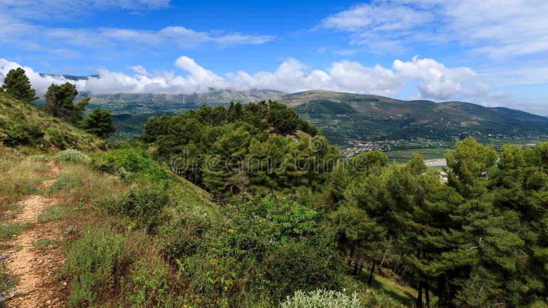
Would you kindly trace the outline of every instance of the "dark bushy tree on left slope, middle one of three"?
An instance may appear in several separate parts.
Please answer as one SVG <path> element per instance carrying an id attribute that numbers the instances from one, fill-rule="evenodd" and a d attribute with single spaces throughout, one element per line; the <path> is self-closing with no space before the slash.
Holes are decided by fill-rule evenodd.
<path id="1" fill-rule="evenodd" d="M 44 104 L 44 111 L 52 116 L 62 118 L 70 123 L 78 123 L 82 120 L 82 112 L 86 109 L 90 101 L 90 97 L 82 99 L 77 103 L 73 103 L 73 100 L 78 95 L 76 86 L 69 84 L 68 82 L 60 86 L 51 84 L 47 88 L 46 102 Z"/>

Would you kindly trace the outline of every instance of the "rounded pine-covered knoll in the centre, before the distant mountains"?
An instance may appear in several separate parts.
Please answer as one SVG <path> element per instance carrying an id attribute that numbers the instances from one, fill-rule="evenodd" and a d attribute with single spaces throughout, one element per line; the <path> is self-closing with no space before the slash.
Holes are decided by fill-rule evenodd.
<path id="1" fill-rule="evenodd" d="M 317 133 L 270 101 L 153 118 L 142 140 L 153 142 L 174 172 L 220 195 L 319 188 L 339 154 Z"/>

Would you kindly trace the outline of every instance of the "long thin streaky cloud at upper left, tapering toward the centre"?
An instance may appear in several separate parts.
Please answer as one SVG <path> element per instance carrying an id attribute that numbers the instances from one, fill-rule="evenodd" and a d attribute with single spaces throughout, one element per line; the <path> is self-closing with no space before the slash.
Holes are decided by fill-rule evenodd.
<path id="1" fill-rule="evenodd" d="M 204 44 L 226 47 L 236 44 L 263 44 L 274 40 L 274 36 L 248 35 L 227 31 L 194 31 L 181 26 L 170 26 L 158 31 L 93 28 L 69 29 L 44 27 L 14 19 L 0 13 L 0 42 L 14 44 L 27 50 L 47 51 L 77 55 L 68 49 L 135 50 L 151 48 L 196 48 Z M 56 49 L 60 45 L 66 48 Z"/>

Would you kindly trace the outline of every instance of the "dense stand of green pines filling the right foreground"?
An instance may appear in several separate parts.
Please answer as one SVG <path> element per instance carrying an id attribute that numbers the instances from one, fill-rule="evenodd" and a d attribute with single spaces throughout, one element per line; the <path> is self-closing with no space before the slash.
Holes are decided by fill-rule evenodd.
<path id="1" fill-rule="evenodd" d="M 356 264 L 406 272 L 443 307 L 545 300 L 546 149 L 506 145 L 495 164 L 466 138 L 446 155 L 447 184 L 419 157 L 350 179 L 330 215 L 339 246 Z"/>

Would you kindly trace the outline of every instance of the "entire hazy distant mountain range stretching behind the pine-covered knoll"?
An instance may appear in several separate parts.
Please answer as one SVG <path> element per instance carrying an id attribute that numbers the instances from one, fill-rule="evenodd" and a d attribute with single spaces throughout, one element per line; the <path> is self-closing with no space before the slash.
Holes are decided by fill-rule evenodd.
<path id="1" fill-rule="evenodd" d="M 40 74 L 47 75 L 47 74 Z M 97 76 L 63 75 L 79 80 Z M 494 138 L 548 138 L 548 118 L 506 107 L 484 107 L 461 101 L 403 101 L 371 94 L 308 90 L 210 89 L 201 94 L 90 94 L 88 109 L 110 110 L 119 138 L 134 139 L 149 118 L 177 114 L 200 105 L 273 100 L 292 107 L 333 144 L 350 140 L 430 138 L 451 140 L 462 135 Z"/>

